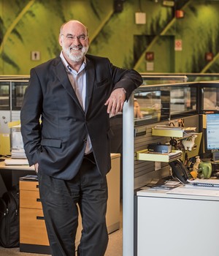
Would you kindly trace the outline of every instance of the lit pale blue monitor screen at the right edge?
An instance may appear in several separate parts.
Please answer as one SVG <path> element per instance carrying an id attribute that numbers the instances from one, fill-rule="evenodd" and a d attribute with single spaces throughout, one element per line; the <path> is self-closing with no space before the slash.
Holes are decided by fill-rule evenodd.
<path id="1" fill-rule="evenodd" d="M 219 113 L 206 115 L 207 150 L 219 149 Z"/>

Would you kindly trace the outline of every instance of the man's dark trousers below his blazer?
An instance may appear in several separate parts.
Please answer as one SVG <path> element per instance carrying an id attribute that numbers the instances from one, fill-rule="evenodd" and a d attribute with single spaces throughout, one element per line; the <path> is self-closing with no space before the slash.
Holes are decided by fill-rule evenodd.
<path id="1" fill-rule="evenodd" d="M 84 158 L 71 181 L 46 176 L 39 170 L 39 193 L 53 256 L 75 255 L 78 207 L 82 216 L 79 256 L 104 256 L 107 249 L 107 179 Z"/>

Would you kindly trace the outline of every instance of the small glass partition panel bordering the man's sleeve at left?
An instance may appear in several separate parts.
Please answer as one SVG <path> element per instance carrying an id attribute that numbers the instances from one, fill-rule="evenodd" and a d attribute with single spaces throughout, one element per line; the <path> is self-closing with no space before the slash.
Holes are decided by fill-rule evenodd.
<path id="1" fill-rule="evenodd" d="M 12 110 L 20 110 L 28 81 L 12 82 Z"/>

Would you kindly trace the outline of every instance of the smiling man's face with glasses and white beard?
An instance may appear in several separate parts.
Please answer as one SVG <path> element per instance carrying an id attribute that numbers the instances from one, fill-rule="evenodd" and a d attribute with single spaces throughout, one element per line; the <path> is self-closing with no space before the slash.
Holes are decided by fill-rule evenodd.
<path id="1" fill-rule="evenodd" d="M 82 62 L 88 52 L 89 39 L 85 26 L 77 21 L 66 23 L 59 37 L 64 56 L 69 61 Z"/>

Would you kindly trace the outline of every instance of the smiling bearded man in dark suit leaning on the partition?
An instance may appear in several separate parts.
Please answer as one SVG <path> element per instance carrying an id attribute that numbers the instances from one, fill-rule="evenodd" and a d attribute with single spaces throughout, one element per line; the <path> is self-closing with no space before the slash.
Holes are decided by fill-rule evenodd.
<path id="1" fill-rule="evenodd" d="M 77 20 L 61 26 L 59 44 L 58 58 L 31 69 L 20 113 L 24 148 L 38 173 L 53 255 L 74 255 L 78 204 L 82 237 L 77 255 L 103 256 L 109 115 L 122 110 L 142 78 L 107 58 L 86 55 L 88 30 Z"/>

